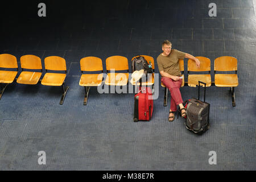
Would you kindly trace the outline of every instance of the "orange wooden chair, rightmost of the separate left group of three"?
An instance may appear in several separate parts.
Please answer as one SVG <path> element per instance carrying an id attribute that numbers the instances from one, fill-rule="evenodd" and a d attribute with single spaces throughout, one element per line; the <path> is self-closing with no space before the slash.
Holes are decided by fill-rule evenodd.
<path id="1" fill-rule="evenodd" d="M 60 100 L 60 105 L 63 104 L 65 95 L 69 89 L 69 86 L 65 86 L 65 77 L 67 75 L 66 61 L 59 56 L 49 56 L 44 59 L 44 66 L 46 72 L 50 71 L 65 71 L 65 73 L 46 73 L 41 82 L 42 85 L 48 86 L 62 86 L 63 95 Z"/>

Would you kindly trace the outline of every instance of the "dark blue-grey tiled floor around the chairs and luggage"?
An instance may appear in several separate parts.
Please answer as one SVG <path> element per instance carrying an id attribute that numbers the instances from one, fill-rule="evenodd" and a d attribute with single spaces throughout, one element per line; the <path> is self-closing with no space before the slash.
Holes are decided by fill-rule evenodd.
<path id="1" fill-rule="evenodd" d="M 208 5 L 217 5 L 217 17 Z M 37 16 L 39 1 L 5 5 L 1 11 L 0 53 L 19 59 L 33 54 L 67 61 L 70 90 L 59 105 L 60 88 L 13 83 L 0 101 L 0 169 L 3 170 L 255 170 L 256 1 L 46 1 L 47 17 Z M 183 119 L 169 123 L 163 88 L 150 122 L 133 122 L 134 94 L 99 94 L 90 89 L 83 105 L 79 61 L 85 56 L 156 57 L 163 40 L 213 62 L 238 59 L 237 106 L 228 88 L 207 88 L 210 129 L 189 133 Z M 42 61 L 43 62 L 43 61 Z M 187 60 L 185 80 L 187 81 Z M 21 70 L 19 69 L 19 72 Z M 155 67 L 158 73 L 158 67 Z M 160 79 L 160 78 L 159 78 Z M 183 99 L 197 89 L 181 88 Z M 170 94 L 168 95 L 170 98 Z M 47 165 L 38 164 L 45 151 Z M 208 163 L 216 151 L 217 165 Z"/>

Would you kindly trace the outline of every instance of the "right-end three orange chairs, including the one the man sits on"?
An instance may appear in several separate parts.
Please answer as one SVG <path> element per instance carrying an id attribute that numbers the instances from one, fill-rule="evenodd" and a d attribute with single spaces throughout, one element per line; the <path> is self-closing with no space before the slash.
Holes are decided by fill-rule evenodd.
<path id="1" fill-rule="evenodd" d="M 199 81 L 206 83 L 206 86 L 219 86 L 219 87 L 229 87 L 232 96 L 232 106 L 236 106 L 236 98 L 234 95 L 234 88 L 238 86 L 238 76 L 237 76 L 237 59 L 232 56 L 221 56 L 214 60 L 214 81 L 212 81 L 210 76 L 210 59 L 208 57 L 197 56 L 200 60 L 200 68 L 196 67 L 195 61 L 188 60 L 188 81 L 184 81 L 184 60 L 179 60 L 180 71 L 183 75 L 183 82 L 181 87 L 184 85 L 196 87 L 199 85 Z M 196 74 L 196 72 L 208 72 L 208 74 Z M 225 73 L 219 73 L 225 72 Z M 228 74 L 226 72 L 234 72 Z M 164 89 L 164 106 L 167 106 L 167 88 L 161 83 Z M 204 86 L 204 85 L 203 85 Z"/>

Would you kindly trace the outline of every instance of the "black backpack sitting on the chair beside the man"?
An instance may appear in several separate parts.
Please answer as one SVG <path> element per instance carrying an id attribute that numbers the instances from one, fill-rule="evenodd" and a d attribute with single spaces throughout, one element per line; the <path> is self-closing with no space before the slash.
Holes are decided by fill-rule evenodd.
<path id="1" fill-rule="evenodd" d="M 147 73 L 153 73 L 153 69 L 148 67 L 147 60 L 143 56 L 134 57 L 134 59 L 131 60 L 131 70 L 134 72 L 140 71 L 141 69 L 144 69 L 146 76 Z"/>

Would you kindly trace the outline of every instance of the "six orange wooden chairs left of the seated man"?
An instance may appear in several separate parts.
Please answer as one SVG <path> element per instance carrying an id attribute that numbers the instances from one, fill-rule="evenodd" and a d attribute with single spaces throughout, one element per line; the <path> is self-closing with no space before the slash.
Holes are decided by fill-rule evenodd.
<path id="1" fill-rule="evenodd" d="M 152 69 L 154 71 L 154 59 L 151 56 L 144 56 L 146 60 L 151 61 Z M 1 70 L 0 71 L 0 100 L 4 90 L 7 85 L 11 84 L 15 78 L 16 82 L 19 84 L 28 84 L 28 85 L 36 85 L 39 80 L 42 85 L 48 86 L 62 86 L 63 95 L 60 100 L 60 105 L 63 104 L 65 95 L 69 89 L 69 86 L 65 86 L 65 77 L 67 76 L 67 67 L 65 63 L 65 59 L 59 56 L 49 56 L 44 59 L 44 65 L 46 69 L 46 74 L 43 76 L 42 80 L 40 80 L 43 68 L 41 59 L 35 55 L 24 55 L 20 57 L 20 67 L 22 68 L 22 72 L 16 78 L 18 74 L 18 63 L 16 57 L 10 54 L 1 54 L 0 55 L 0 68 L 14 68 L 16 71 L 9 70 Z M 84 86 L 85 88 L 85 98 L 84 105 L 87 104 L 87 98 L 90 90 L 90 86 L 100 86 L 103 80 L 103 66 L 102 60 L 98 57 L 84 57 L 80 60 L 81 67 L 81 78 L 79 85 Z M 31 71 L 33 69 L 33 71 Z M 35 72 L 34 70 L 40 70 L 40 72 Z M 111 56 L 106 59 L 106 70 L 108 75 L 105 80 L 106 85 L 117 85 L 123 86 L 127 85 L 129 80 L 129 65 L 126 57 L 123 56 Z M 112 72 L 114 70 L 114 72 Z M 49 72 L 50 71 L 50 72 Z M 56 73 L 52 71 L 65 71 L 65 73 Z M 101 71 L 102 73 L 97 74 L 88 74 L 84 72 L 97 72 Z M 126 73 L 117 73 L 116 71 L 126 71 Z M 133 85 L 136 83 L 133 82 Z M 154 85 L 154 73 L 148 77 L 146 82 L 142 82 L 142 85 Z"/>

